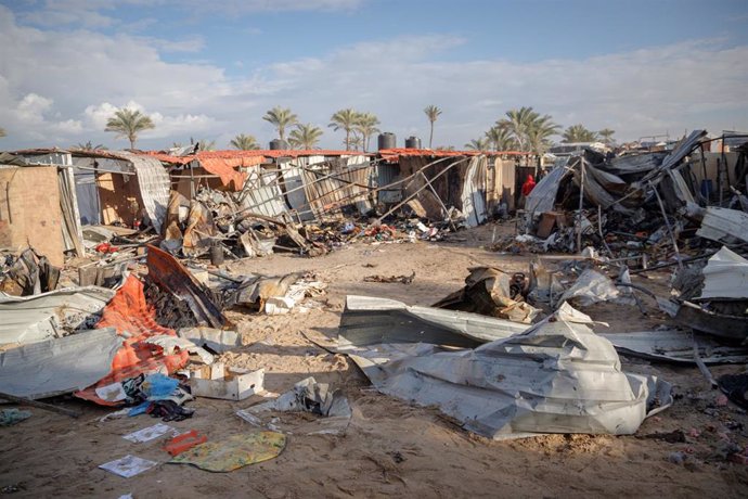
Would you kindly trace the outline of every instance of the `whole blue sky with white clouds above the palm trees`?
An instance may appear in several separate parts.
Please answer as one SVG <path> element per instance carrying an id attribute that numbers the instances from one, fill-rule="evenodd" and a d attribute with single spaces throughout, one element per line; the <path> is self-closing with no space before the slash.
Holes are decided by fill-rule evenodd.
<path id="1" fill-rule="evenodd" d="M 121 106 L 139 146 L 273 138 L 273 105 L 325 128 L 343 107 L 461 148 L 508 108 L 619 140 L 748 129 L 748 2 L 0 0 L 1 149 L 68 146 Z M 43 75 L 43 78 L 40 78 Z"/>

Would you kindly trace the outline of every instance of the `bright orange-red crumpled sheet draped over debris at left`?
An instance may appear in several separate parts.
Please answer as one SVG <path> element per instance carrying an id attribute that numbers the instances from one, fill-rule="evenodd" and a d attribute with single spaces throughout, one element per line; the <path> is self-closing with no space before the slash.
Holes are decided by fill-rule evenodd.
<path id="1" fill-rule="evenodd" d="M 127 278 L 125 285 L 117 291 L 112 302 L 104 308 L 102 319 L 96 324 L 96 329 L 101 328 L 116 329 L 117 334 L 124 336 L 125 341 L 112 360 L 112 372 L 96 384 L 76 392 L 74 395 L 78 398 L 91 400 L 102 406 L 117 406 L 121 402 L 103 400 L 99 398 L 95 389 L 128 378 L 134 378 L 141 373 L 151 374 L 166 371 L 171 374 L 188 362 L 190 354 L 186 350 L 164 355 L 164 349 L 160 346 L 143 341 L 150 336 L 163 334 L 176 336 L 177 332 L 158 325 L 156 311 L 145 302 L 143 283 L 134 276 Z"/>

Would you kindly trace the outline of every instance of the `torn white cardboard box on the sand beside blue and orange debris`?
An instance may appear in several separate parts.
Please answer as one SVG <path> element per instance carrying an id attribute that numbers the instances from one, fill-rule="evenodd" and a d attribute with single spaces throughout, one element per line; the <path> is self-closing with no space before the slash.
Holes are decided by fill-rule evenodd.
<path id="1" fill-rule="evenodd" d="M 192 395 L 196 397 L 244 400 L 263 389 L 265 369 L 227 368 L 223 362 L 205 366 L 190 375 Z"/>

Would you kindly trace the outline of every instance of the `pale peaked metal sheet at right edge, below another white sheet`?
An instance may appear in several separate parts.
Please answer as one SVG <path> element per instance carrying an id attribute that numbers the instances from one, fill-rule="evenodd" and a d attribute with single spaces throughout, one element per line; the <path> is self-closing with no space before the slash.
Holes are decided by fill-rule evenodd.
<path id="1" fill-rule="evenodd" d="M 722 246 L 701 271 L 704 289 L 700 299 L 748 298 L 748 260 Z"/>

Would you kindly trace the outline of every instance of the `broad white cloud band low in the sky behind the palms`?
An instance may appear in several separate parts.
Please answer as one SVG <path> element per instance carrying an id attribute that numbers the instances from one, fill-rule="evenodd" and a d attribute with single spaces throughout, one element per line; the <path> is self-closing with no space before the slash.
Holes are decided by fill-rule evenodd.
<path id="1" fill-rule="evenodd" d="M 402 141 L 409 135 L 427 138 L 423 108 L 436 104 L 443 114 L 435 145 L 457 148 L 521 105 L 565 126 L 614 128 L 621 139 L 666 130 L 674 136 L 696 127 L 748 128 L 747 46 L 694 40 L 583 60 L 443 61 L 444 51 L 465 41 L 439 35 L 357 42 L 266 67 L 234 66 L 232 72 L 245 74 L 229 76 L 215 64 L 162 56 L 175 48 L 201 51 L 199 38 L 170 46 L 124 33 L 51 33 L 20 26 L 0 5 L 0 47 L 13 47 L 0 57 L 0 126 L 9 131 L 2 146 L 57 140 L 59 145 L 91 140 L 121 146 L 103 131 L 119 106 L 153 117 L 156 129 L 139 140 L 153 149 L 191 136 L 217 138 L 227 146 L 241 132 L 265 143 L 273 130 L 261 116 L 274 105 L 322 126 L 327 148 L 341 144 L 340 133 L 326 128 L 331 114 L 349 106 L 377 114 L 381 128 Z"/>

